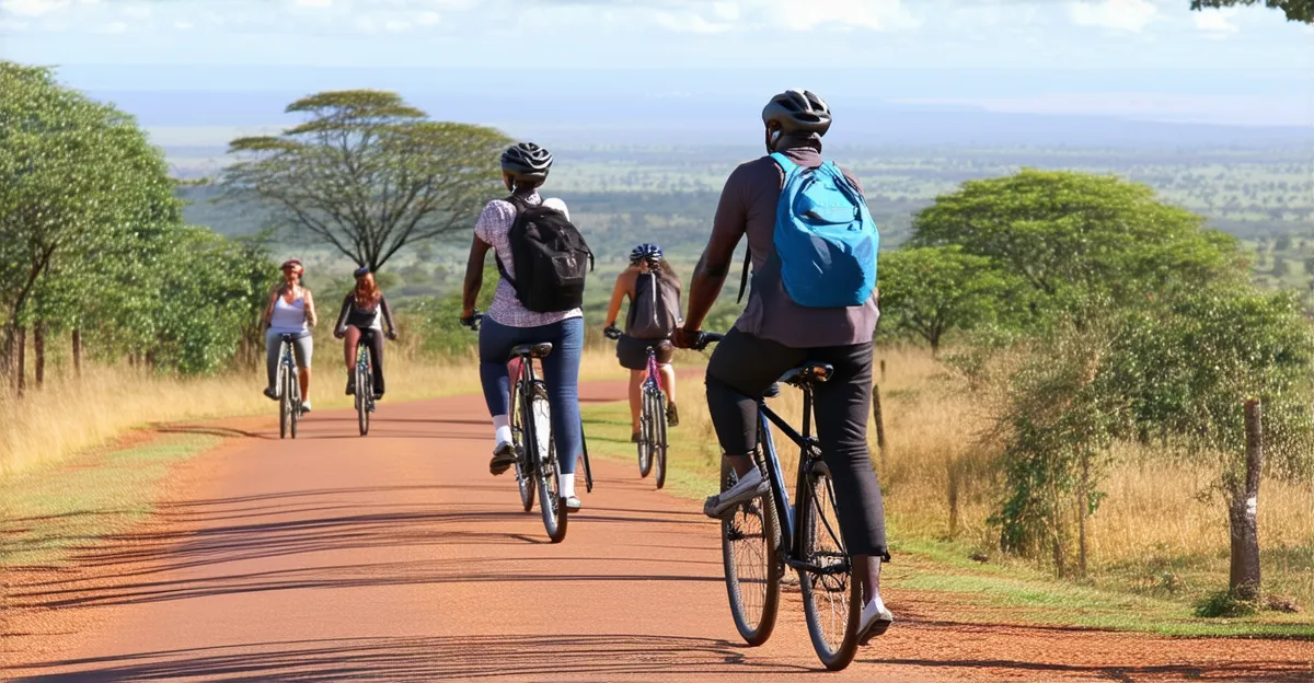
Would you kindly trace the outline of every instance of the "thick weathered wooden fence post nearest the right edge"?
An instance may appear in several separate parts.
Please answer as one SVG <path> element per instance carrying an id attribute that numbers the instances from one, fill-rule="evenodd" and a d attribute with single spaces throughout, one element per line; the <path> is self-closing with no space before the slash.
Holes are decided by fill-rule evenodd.
<path id="1" fill-rule="evenodd" d="M 1231 477 L 1231 573 L 1227 587 L 1243 600 L 1259 599 L 1259 475 L 1264 469 L 1264 432 L 1259 401 L 1246 402 L 1246 479 Z"/>

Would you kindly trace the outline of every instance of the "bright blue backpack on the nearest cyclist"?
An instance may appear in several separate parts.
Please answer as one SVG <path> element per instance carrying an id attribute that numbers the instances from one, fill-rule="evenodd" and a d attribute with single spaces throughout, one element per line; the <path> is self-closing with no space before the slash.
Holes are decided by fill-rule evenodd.
<path id="1" fill-rule="evenodd" d="M 784 171 L 773 243 L 784 292 L 799 306 L 862 306 L 876 286 L 880 234 L 867 202 L 840 167 L 771 159 Z M 748 263 L 740 297 L 748 284 Z"/>

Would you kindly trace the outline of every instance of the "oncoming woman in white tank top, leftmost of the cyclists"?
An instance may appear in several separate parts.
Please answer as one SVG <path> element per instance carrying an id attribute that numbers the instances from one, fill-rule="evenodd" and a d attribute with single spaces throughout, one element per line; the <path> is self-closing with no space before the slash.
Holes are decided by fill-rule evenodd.
<path id="1" fill-rule="evenodd" d="M 292 335 L 292 349 L 301 373 L 301 411 L 310 412 L 310 360 L 315 343 L 310 328 L 318 322 L 315 299 L 310 290 L 301 286 L 301 276 L 306 269 L 301 261 L 292 259 L 283 264 L 283 284 L 269 293 L 269 303 L 264 307 L 264 356 L 269 386 L 264 395 L 277 401 L 275 382 L 279 380 L 279 347 L 283 335 Z"/>

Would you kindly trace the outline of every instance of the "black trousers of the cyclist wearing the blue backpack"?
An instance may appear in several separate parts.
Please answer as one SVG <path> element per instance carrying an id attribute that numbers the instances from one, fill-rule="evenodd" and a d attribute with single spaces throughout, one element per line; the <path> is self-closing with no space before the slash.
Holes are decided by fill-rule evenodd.
<path id="1" fill-rule="evenodd" d="M 872 344 L 788 348 L 732 328 L 707 365 L 707 407 L 721 449 L 742 456 L 757 449 L 757 397 L 807 361 L 834 366 L 813 390 L 817 439 L 834 479 L 840 531 L 850 554 L 890 558 L 880 485 L 867 451 Z M 788 389 L 784 389 L 788 390 Z M 792 478 L 786 475 L 786 481 Z"/>

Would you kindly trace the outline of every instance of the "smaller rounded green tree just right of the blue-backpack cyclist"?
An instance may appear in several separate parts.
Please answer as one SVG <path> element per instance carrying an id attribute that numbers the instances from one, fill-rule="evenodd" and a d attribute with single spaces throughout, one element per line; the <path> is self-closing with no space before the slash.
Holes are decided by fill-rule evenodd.
<path id="1" fill-rule="evenodd" d="M 1009 317 L 1009 294 L 1021 289 L 988 257 L 959 246 L 883 253 L 879 277 L 886 324 L 921 336 L 936 353 L 945 334 Z"/>

